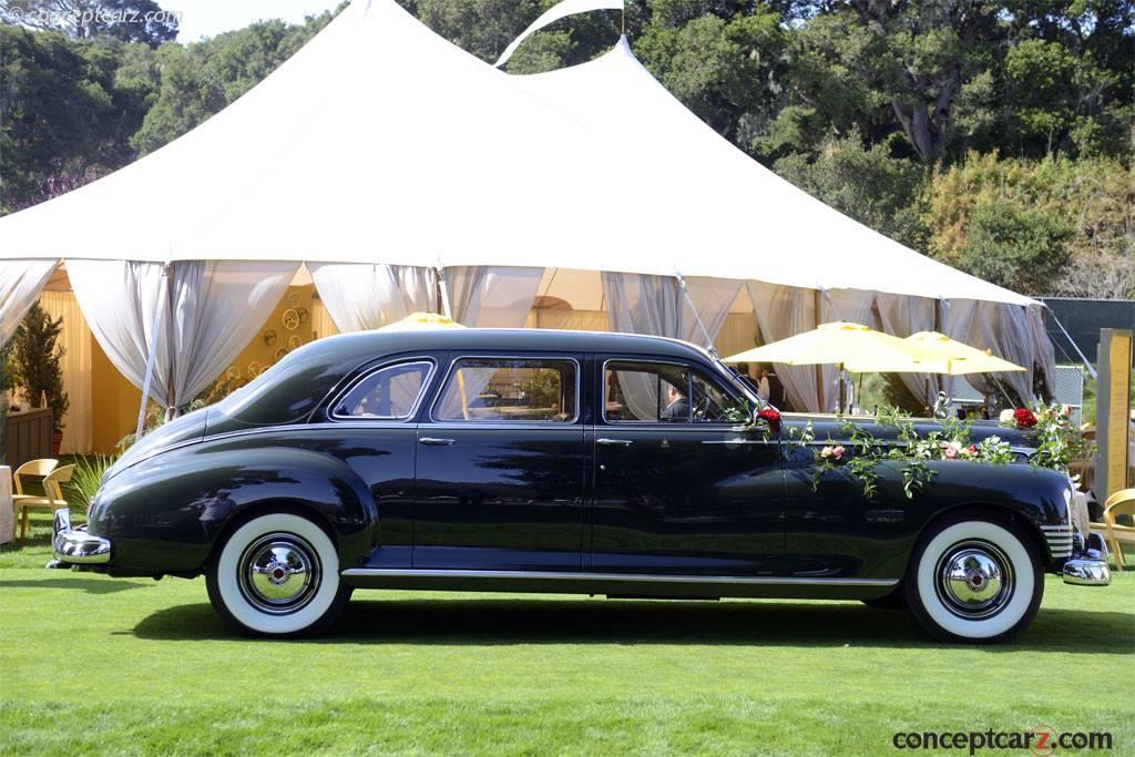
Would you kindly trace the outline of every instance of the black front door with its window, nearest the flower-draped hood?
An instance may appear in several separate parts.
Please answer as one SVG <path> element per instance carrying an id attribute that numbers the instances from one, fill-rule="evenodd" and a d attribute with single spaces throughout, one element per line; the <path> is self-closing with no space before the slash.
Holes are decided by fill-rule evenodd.
<path id="1" fill-rule="evenodd" d="M 779 445 L 726 420 L 740 397 L 692 363 L 608 356 L 596 368 L 590 569 L 776 572 L 784 547 Z"/>

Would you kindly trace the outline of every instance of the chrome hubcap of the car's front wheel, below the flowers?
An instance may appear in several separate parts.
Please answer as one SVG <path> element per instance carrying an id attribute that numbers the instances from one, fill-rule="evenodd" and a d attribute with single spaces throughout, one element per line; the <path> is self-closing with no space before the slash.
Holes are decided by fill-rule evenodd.
<path id="1" fill-rule="evenodd" d="M 935 571 L 938 596 L 956 615 L 981 620 L 1001 612 L 1012 597 L 1012 563 L 986 541 L 956 544 Z"/>

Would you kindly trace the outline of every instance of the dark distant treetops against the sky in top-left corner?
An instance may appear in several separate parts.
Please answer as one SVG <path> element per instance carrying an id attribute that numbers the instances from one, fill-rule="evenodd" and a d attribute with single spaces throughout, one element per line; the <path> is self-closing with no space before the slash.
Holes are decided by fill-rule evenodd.
<path id="1" fill-rule="evenodd" d="M 109 36 L 157 48 L 177 39 L 178 14 L 153 0 L 0 0 L 0 20 L 75 40 Z"/>

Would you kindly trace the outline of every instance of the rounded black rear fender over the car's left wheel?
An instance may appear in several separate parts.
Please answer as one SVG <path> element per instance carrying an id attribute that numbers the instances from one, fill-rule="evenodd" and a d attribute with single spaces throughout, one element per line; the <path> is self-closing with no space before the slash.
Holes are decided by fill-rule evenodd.
<path id="1" fill-rule="evenodd" d="M 336 457 L 300 447 L 201 445 L 107 481 L 89 528 L 110 540 L 115 567 L 195 573 L 234 519 L 267 506 L 313 515 L 335 537 L 343 564 L 369 552 L 379 519 L 365 483 Z"/>

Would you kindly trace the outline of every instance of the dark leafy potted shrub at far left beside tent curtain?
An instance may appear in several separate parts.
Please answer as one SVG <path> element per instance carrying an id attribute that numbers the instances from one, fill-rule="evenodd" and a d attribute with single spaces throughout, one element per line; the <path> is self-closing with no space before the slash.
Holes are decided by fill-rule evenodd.
<path id="1" fill-rule="evenodd" d="M 64 346 L 59 344 L 64 319 L 53 319 L 40 303 L 32 305 L 19 325 L 11 344 L 11 371 L 16 384 L 24 389 L 24 397 L 32 407 L 51 407 L 54 426 L 51 454 L 59 455 L 64 438 L 64 415 L 70 399 L 64 392 Z"/>

